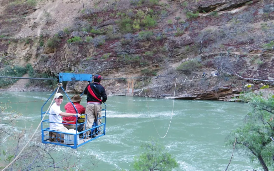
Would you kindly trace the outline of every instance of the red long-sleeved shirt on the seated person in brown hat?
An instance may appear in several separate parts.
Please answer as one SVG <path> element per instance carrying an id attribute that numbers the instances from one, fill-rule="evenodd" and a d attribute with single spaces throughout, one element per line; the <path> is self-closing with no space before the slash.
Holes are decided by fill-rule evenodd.
<path id="1" fill-rule="evenodd" d="M 84 114 L 85 108 L 84 106 L 80 105 L 79 103 L 73 103 L 75 108 L 77 109 L 78 113 Z M 65 105 L 66 113 L 76 113 L 74 107 L 69 102 Z M 75 116 L 65 116 L 62 117 L 62 123 L 70 123 L 70 124 L 76 124 L 76 117 Z"/>

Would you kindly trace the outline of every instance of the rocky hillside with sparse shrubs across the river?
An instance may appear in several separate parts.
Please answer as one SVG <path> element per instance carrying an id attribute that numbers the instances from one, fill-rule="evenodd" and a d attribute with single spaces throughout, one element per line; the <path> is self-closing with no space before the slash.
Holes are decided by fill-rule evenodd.
<path id="1" fill-rule="evenodd" d="M 135 93 L 144 81 L 148 96 L 172 98 L 177 78 L 177 99 L 230 100 L 251 82 L 234 73 L 274 79 L 271 2 L 0 0 L 1 68 L 30 63 L 48 76 L 168 76 L 134 79 Z M 218 76 L 201 77 L 213 71 Z M 102 84 L 108 94 L 121 94 L 127 81 Z M 255 90 L 264 82 L 252 83 Z M 66 91 L 85 85 L 67 83 Z"/>

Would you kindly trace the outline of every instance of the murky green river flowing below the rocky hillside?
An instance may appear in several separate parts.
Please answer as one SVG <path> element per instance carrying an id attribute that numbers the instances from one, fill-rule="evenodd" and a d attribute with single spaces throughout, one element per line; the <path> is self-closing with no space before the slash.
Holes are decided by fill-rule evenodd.
<path id="1" fill-rule="evenodd" d="M 11 103 L 23 115 L 16 127 L 34 130 L 41 120 L 42 100 L 47 100 L 50 92 L 1 92 L 0 103 Z M 72 96 L 72 94 L 70 94 Z M 64 108 L 68 99 L 61 105 Z M 85 106 L 85 96 L 81 104 Z M 142 142 L 150 137 L 159 143 L 178 161 L 185 171 L 225 170 L 231 157 L 231 150 L 225 147 L 225 138 L 231 131 L 243 124 L 248 105 L 222 101 L 175 100 L 173 118 L 165 138 L 159 138 L 153 123 L 164 136 L 171 117 L 173 100 L 132 96 L 108 97 L 106 136 L 77 148 L 86 156 L 94 155 L 97 167 L 94 170 L 130 169 L 130 164 L 141 150 Z M 64 109 L 63 109 L 64 110 Z M 65 148 L 65 147 L 58 147 Z M 72 149 L 73 150 L 73 149 Z M 251 170 L 253 164 L 248 158 L 234 154 L 229 170 Z"/>

